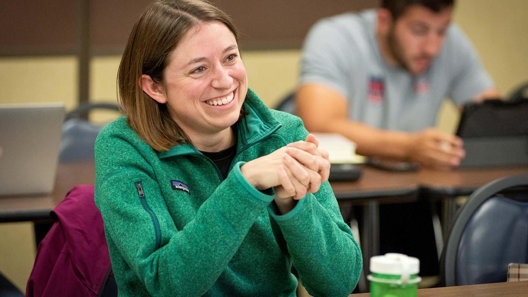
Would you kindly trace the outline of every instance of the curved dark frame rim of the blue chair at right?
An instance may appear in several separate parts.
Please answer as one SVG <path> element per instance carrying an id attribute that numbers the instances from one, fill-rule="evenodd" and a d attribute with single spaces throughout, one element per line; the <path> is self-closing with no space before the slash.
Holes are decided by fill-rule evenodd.
<path id="1" fill-rule="evenodd" d="M 456 285 L 456 260 L 458 244 L 466 228 L 467 222 L 473 216 L 476 209 L 492 196 L 514 187 L 528 186 L 528 175 L 506 176 L 492 181 L 473 192 L 467 199 L 466 204 L 460 209 L 459 214 L 451 227 L 449 237 L 444 249 L 444 273 L 446 286 Z"/>

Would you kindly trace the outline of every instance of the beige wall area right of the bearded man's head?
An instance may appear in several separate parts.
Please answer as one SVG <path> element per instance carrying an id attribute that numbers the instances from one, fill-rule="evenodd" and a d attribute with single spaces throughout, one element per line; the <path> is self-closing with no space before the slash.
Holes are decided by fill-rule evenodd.
<path id="1" fill-rule="evenodd" d="M 528 81 L 528 1 L 459 0 L 455 22 L 473 42 L 497 89 Z"/>

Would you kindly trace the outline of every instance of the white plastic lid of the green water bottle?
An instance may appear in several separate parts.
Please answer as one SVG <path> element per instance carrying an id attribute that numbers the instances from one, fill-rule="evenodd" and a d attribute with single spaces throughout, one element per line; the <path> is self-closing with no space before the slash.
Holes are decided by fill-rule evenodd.
<path id="1" fill-rule="evenodd" d="M 409 275 L 420 272 L 420 260 L 404 254 L 387 253 L 370 258 L 370 271 L 380 274 L 401 275 L 402 280 L 409 280 Z"/>

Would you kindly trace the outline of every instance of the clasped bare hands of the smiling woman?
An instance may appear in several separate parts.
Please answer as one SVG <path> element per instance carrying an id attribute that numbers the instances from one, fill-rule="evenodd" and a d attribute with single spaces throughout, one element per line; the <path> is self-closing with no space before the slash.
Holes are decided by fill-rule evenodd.
<path id="1" fill-rule="evenodd" d="M 317 138 L 309 134 L 303 141 L 288 143 L 269 155 L 251 160 L 240 170 L 259 190 L 274 187 L 275 203 L 287 213 L 307 193 L 315 193 L 328 180 L 328 152 L 319 149 Z"/>

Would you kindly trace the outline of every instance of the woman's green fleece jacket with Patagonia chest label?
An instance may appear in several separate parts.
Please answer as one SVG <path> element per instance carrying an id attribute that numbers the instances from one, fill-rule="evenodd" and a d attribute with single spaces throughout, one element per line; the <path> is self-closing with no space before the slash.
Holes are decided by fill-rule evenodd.
<path id="1" fill-rule="evenodd" d="M 121 117 L 99 134 L 95 201 L 119 296 L 347 296 L 362 267 L 328 182 L 280 215 L 252 187 L 244 162 L 304 140 L 303 122 L 269 110 L 251 90 L 237 154 L 222 180 L 192 145 L 153 150 Z M 271 195 L 267 195 L 271 194 Z"/>

